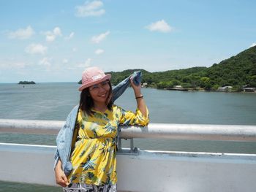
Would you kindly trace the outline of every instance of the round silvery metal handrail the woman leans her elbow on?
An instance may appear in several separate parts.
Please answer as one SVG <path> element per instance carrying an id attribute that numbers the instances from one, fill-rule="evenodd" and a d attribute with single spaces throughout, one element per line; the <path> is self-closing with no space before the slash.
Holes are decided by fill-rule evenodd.
<path id="1" fill-rule="evenodd" d="M 58 134 L 62 126 L 59 120 L 0 119 L 0 133 Z M 256 126 L 150 123 L 122 127 L 120 137 L 256 142 Z"/>

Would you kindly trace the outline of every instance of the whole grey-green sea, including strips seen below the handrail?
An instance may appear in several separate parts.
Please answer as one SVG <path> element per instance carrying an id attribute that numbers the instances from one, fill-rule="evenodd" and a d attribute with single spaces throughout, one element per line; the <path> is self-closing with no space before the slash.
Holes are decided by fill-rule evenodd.
<path id="1" fill-rule="evenodd" d="M 77 82 L 45 82 L 35 85 L 0 83 L 0 118 L 65 120 L 78 104 Z M 150 123 L 256 125 L 256 93 L 167 91 L 142 88 Z M 115 102 L 135 111 L 132 88 Z M 0 142 L 56 145 L 55 135 L 0 133 Z M 129 147 L 129 141 L 122 143 Z M 168 139 L 135 139 L 143 150 L 176 150 L 218 153 L 256 153 L 255 142 L 214 142 Z M 0 191 L 61 191 L 43 185 L 0 182 Z"/>

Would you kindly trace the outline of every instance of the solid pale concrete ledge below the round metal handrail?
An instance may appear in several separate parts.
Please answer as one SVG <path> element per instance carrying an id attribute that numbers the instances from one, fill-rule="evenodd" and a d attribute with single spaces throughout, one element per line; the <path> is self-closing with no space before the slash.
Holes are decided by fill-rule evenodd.
<path id="1" fill-rule="evenodd" d="M 0 180 L 56 185 L 55 146 L 0 143 Z M 118 191 L 255 191 L 256 155 L 140 150 L 117 155 Z"/>

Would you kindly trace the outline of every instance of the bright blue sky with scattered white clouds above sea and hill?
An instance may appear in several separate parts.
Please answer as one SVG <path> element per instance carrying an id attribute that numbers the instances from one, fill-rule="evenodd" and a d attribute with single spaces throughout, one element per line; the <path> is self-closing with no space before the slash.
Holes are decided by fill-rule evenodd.
<path id="1" fill-rule="evenodd" d="M 76 82 L 88 66 L 211 66 L 256 45 L 256 1 L 0 1 L 0 82 Z"/>

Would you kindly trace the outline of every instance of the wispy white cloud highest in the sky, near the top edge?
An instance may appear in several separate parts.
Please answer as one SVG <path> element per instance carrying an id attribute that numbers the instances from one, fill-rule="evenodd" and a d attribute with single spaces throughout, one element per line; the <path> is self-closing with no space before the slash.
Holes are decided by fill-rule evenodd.
<path id="1" fill-rule="evenodd" d="M 75 15 L 80 18 L 96 17 L 105 14 L 105 9 L 102 9 L 102 1 L 86 2 L 83 5 L 75 7 Z"/>

